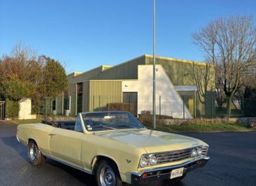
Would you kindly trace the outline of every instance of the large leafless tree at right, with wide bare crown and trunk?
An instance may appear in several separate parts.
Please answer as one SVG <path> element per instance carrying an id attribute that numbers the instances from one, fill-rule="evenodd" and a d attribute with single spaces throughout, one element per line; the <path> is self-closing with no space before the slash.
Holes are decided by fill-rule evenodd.
<path id="1" fill-rule="evenodd" d="M 193 33 L 193 42 L 215 66 L 216 88 L 227 98 L 228 115 L 235 92 L 241 88 L 256 60 L 253 16 L 219 18 Z M 218 87 L 221 86 L 221 87 Z"/>

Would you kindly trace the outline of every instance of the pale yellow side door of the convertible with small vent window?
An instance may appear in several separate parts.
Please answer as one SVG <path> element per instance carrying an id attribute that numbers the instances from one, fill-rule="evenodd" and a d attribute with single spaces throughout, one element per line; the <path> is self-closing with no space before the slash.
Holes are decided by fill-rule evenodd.
<path id="1" fill-rule="evenodd" d="M 78 120 L 76 120 L 75 130 L 55 128 L 50 136 L 51 156 L 70 165 L 82 168 L 81 147 L 84 133 L 79 115 Z"/>

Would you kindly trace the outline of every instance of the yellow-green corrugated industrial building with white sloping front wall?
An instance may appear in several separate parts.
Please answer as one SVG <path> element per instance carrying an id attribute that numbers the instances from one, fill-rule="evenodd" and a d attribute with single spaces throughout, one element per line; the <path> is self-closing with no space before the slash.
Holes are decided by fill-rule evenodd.
<path id="1" fill-rule="evenodd" d="M 115 66 L 72 72 L 67 75 L 68 92 L 54 100 L 52 110 L 76 116 L 78 112 L 108 110 L 110 103 L 128 102 L 134 107 L 134 115 L 152 112 L 152 63 L 153 56 L 144 54 Z M 211 100 L 200 102 L 197 86 L 186 72 L 193 64 L 205 65 L 156 56 L 156 114 L 174 118 L 211 114 L 214 105 Z"/>

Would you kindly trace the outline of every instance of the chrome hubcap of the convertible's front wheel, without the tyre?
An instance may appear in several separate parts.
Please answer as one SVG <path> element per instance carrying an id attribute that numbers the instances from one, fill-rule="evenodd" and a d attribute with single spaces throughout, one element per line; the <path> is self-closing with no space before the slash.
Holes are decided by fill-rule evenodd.
<path id="1" fill-rule="evenodd" d="M 112 186 L 116 184 L 116 177 L 114 176 L 114 171 L 110 167 L 102 167 L 100 171 L 100 184 L 102 186 Z"/>

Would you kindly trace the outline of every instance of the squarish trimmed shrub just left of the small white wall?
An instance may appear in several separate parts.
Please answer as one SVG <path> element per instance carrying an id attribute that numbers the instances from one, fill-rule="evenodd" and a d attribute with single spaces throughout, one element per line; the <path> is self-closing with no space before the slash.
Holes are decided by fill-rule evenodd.
<path id="1" fill-rule="evenodd" d="M 17 119 L 19 117 L 19 102 L 6 100 L 5 117 L 9 119 Z"/>

